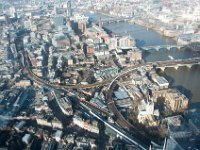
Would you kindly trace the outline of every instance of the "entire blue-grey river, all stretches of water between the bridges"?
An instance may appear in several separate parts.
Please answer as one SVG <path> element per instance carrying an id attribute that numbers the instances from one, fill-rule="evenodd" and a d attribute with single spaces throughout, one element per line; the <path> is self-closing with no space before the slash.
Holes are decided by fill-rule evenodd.
<path id="1" fill-rule="evenodd" d="M 87 13 L 92 20 L 98 20 L 99 17 L 108 18 L 105 15 Z M 176 45 L 176 41 L 164 37 L 157 32 L 142 26 L 130 24 L 127 22 L 104 24 L 104 27 L 118 35 L 131 35 L 136 40 L 136 46 L 155 46 L 155 45 Z M 148 62 L 163 61 L 169 59 L 187 59 L 195 57 L 188 50 L 150 50 L 143 52 L 143 59 Z M 195 65 L 192 68 L 180 67 L 178 70 L 167 68 L 161 75 L 165 76 L 170 82 L 171 87 L 178 88 L 190 99 L 190 108 L 200 109 L 200 66 Z"/>

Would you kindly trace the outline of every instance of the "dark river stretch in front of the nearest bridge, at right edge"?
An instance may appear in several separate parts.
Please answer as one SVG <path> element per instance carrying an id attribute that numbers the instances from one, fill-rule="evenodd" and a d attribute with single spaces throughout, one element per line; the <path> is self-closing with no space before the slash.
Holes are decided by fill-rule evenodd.
<path id="1" fill-rule="evenodd" d="M 191 68 L 179 67 L 166 68 L 164 72 L 159 72 L 170 83 L 170 87 L 177 88 L 181 93 L 190 99 L 189 109 L 200 110 L 200 66 L 194 65 Z"/>

